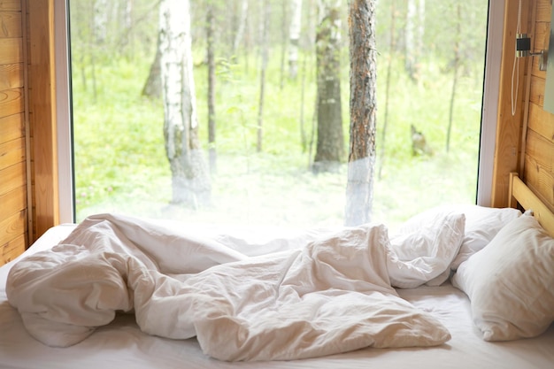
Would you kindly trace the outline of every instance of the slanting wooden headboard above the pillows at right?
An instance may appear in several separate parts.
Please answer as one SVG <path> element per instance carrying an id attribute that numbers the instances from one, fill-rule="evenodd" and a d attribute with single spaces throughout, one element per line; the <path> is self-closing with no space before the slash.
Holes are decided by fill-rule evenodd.
<path id="1" fill-rule="evenodd" d="M 527 187 L 525 182 L 521 181 L 518 173 L 510 173 L 509 201 L 510 206 L 514 208 L 520 204 L 525 210 L 531 209 L 541 226 L 554 237 L 554 213 L 531 188 Z"/>

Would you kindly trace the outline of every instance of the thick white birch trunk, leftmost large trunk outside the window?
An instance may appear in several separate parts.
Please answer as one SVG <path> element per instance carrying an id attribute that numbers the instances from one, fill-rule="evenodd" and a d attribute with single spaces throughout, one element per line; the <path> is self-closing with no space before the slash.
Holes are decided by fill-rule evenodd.
<path id="1" fill-rule="evenodd" d="M 211 183 L 198 139 L 189 0 L 162 0 L 159 14 L 165 153 L 172 172 L 172 202 L 196 209 L 210 204 Z"/>

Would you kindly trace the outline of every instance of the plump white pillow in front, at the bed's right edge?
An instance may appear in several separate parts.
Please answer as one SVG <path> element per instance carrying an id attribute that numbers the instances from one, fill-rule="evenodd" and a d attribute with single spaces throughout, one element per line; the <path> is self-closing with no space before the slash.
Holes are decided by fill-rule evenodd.
<path id="1" fill-rule="evenodd" d="M 452 284 L 469 296 L 485 341 L 542 334 L 554 321 L 554 239 L 532 216 L 514 219 L 459 266 Z"/>

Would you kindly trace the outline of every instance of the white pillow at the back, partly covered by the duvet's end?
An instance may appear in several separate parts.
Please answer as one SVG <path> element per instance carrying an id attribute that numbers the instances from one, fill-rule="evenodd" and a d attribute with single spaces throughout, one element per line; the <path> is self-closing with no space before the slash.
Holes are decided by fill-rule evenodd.
<path id="1" fill-rule="evenodd" d="M 489 208 L 472 204 L 442 205 L 408 219 L 400 227 L 399 233 L 405 234 L 425 227 L 433 219 L 452 212 L 461 212 L 466 215 L 466 234 L 458 256 L 450 265 L 452 270 L 458 269 L 458 266 L 467 258 L 485 247 L 502 227 L 521 215 L 521 211 L 512 208 Z"/>

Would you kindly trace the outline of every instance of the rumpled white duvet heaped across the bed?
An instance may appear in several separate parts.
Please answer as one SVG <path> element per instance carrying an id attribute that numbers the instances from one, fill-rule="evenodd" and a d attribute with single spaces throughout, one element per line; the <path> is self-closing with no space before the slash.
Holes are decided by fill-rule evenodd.
<path id="1" fill-rule="evenodd" d="M 392 238 L 368 224 L 253 243 L 101 214 L 13 265 L 6 293 L 27 331 L 56 347 L 119 312 L 134 312 L 148 334 L 196 336 L 206 355 L 230 361 L 435 346 L 448 330 L 395 287 L 448 278 L 464 221 L 451 213 Z"/>

